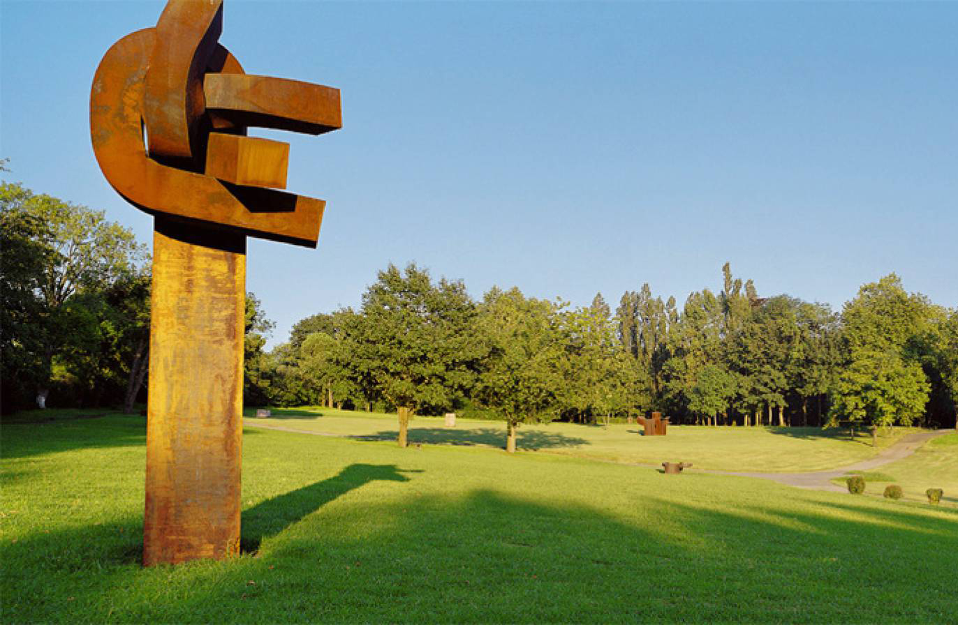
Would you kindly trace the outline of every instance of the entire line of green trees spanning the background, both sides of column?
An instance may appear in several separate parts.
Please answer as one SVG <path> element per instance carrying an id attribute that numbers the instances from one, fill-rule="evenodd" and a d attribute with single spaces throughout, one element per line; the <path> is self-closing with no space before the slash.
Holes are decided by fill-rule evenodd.
<path id="1" fill-rule="evenodd" d="M 103 212 L 0 186 L 4 412 L 145 399 L 149 264 Z M 361 304 L 317 313 L 265 350 L 273 324 L 246 301 L 247 405 L 325 405 L 521 422 L 659 411 L 673 422 L 952 425 L 958 312 L 893 275 L 840 313 L 760 297 L 728 263 L 679 307 L 648 284 L 613 309 L 490 289 L 390 265 Z"/>

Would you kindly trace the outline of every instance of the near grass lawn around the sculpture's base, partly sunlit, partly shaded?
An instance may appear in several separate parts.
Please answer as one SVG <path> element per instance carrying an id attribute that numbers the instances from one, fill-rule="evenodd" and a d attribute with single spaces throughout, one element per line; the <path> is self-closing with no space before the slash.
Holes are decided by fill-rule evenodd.
<path id="1" fill-rule="evenodd" d="M 958 621 L 947 507 L 247 428 L 245 553 L 143 569 L 143 417 L 0 434 L 9 623 Z"/>

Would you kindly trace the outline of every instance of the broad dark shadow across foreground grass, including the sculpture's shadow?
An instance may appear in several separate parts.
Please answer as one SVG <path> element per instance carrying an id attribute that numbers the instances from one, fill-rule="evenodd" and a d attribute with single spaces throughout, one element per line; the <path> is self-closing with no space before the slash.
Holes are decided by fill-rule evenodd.
<path id="1" fill-rule="evenodd" d="M 407 473 L 354 464 L 250 511 L 279 514 L 282 530 L 363 483 L 405 481 Z M 345 516 L 304 519 L 304 531 L 270 542 L 262 557 L 175 574 L 136 566 L 136 515 L 51 533 L 37 528 L 0 543 L 2 605 L 9 622 L 262 622 L 279 614 L 325 622 L 904 623 L 958 616 L 952 578 L 942 574 L 958 550 L 958 510 L 928 516 L 909 505 L 802 492 L 792 495 L 811 505 L 799 508 L 646 495 L 636 516 L 623 518 L 552 495 L 470 489 L 361 502 Z M 374 521 L 358 534 L 343 531 L 350 514 Z M 639 593 L 623 582 L 633 579 L 654 583 Z M 844 587 L 869 592 L 836 599 Z"/>

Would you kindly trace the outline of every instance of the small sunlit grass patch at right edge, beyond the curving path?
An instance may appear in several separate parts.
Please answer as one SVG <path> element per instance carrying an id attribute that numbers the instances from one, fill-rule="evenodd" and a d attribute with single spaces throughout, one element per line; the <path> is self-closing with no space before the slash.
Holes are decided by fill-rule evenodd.
<path id="1" fill-rule="evenodd" d="M 958 506 L 958 433 L 934 438 L 912 456 L 881 467 L 878 474 L 865 474 L 865 494 L 881 497 L 885 486 L 898 484 L 904 499 L 927 502 L 924 491 L 945 491 L 941 505 Z M 845 485 L 844 480 L 835 480 Z"/>

